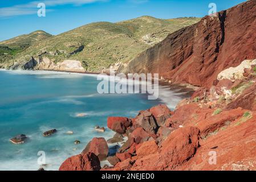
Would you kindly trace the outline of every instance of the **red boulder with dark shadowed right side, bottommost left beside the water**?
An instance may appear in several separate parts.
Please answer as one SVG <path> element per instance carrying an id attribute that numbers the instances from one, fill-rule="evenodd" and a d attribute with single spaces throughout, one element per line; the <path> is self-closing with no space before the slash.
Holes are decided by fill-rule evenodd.
<path id="1" fill-rule="evenodd" d="M 66 159 L 59 167 L 59 171 L 99 171 L 100 161 L 97 156 L 88 152 Z"/>

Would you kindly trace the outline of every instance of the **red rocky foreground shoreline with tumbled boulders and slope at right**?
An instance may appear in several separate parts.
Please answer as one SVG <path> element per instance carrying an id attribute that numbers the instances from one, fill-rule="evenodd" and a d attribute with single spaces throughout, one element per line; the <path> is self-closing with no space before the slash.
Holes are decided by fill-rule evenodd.
<path id="1" fill-rule="evenodd" d="M 158 105 L 135 118 L 109 117 L 108 128 L 128 137 L 117 152 L 107 155 L 107 142 L 94 138 L 59 170 L 256 170 L 256 65 L 238 68 L 238 77 L 226 78 L 234 75 L 231 69 L 221 73 L 215 85 L 198 89 L 174 111 Z M 111 166 L 101 167 L 106 157 Z"/>

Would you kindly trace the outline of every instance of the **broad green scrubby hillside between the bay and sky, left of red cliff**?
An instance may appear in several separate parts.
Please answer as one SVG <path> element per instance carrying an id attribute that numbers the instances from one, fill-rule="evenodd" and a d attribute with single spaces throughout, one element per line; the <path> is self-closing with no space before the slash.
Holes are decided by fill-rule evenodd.
<path id="1" fill-rule="evenodd" d="M 52 36 L 43 42 L 32 44 L 18 52 L 3 67 L 12 67 L 14 62 L 24 64 L 30 60 L 47 57 L 57 63 L 63 60 L 78 60 L 88 72 L 100 72 L 115 63 L 128 63 L 140 52 L 161 42 L 170 33 L 198 22 L 198 18 L 156 19 L 151 16 L 118 23 L 97 22 Z M 1 42 L 1 45 L 13 41 Z M 14 41 L 15 42 L 15 41 Z"/>

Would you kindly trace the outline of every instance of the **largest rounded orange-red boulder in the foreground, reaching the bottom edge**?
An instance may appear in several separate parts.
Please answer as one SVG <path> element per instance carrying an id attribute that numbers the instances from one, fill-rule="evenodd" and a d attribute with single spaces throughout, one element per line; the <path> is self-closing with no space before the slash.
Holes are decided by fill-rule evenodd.
<path id="1" fill-rule="evenodd" d="M 143 156 L 131 170 L 173 170 L 190 159 L 199 147 L 199 130 L 184 127 L 175 130 L 162 142 L 160 153 Z"/>

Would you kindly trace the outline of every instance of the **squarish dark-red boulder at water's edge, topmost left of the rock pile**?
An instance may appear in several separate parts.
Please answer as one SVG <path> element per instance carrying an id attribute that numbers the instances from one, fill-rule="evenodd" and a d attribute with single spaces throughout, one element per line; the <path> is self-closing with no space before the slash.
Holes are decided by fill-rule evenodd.
<path id="1" fill-rule="evenodd" d="M 127 127 L 131 126 L 131 121 L 125 117 L 108 117 L 107 126 L 116 133 L 125 134 Z"/>

